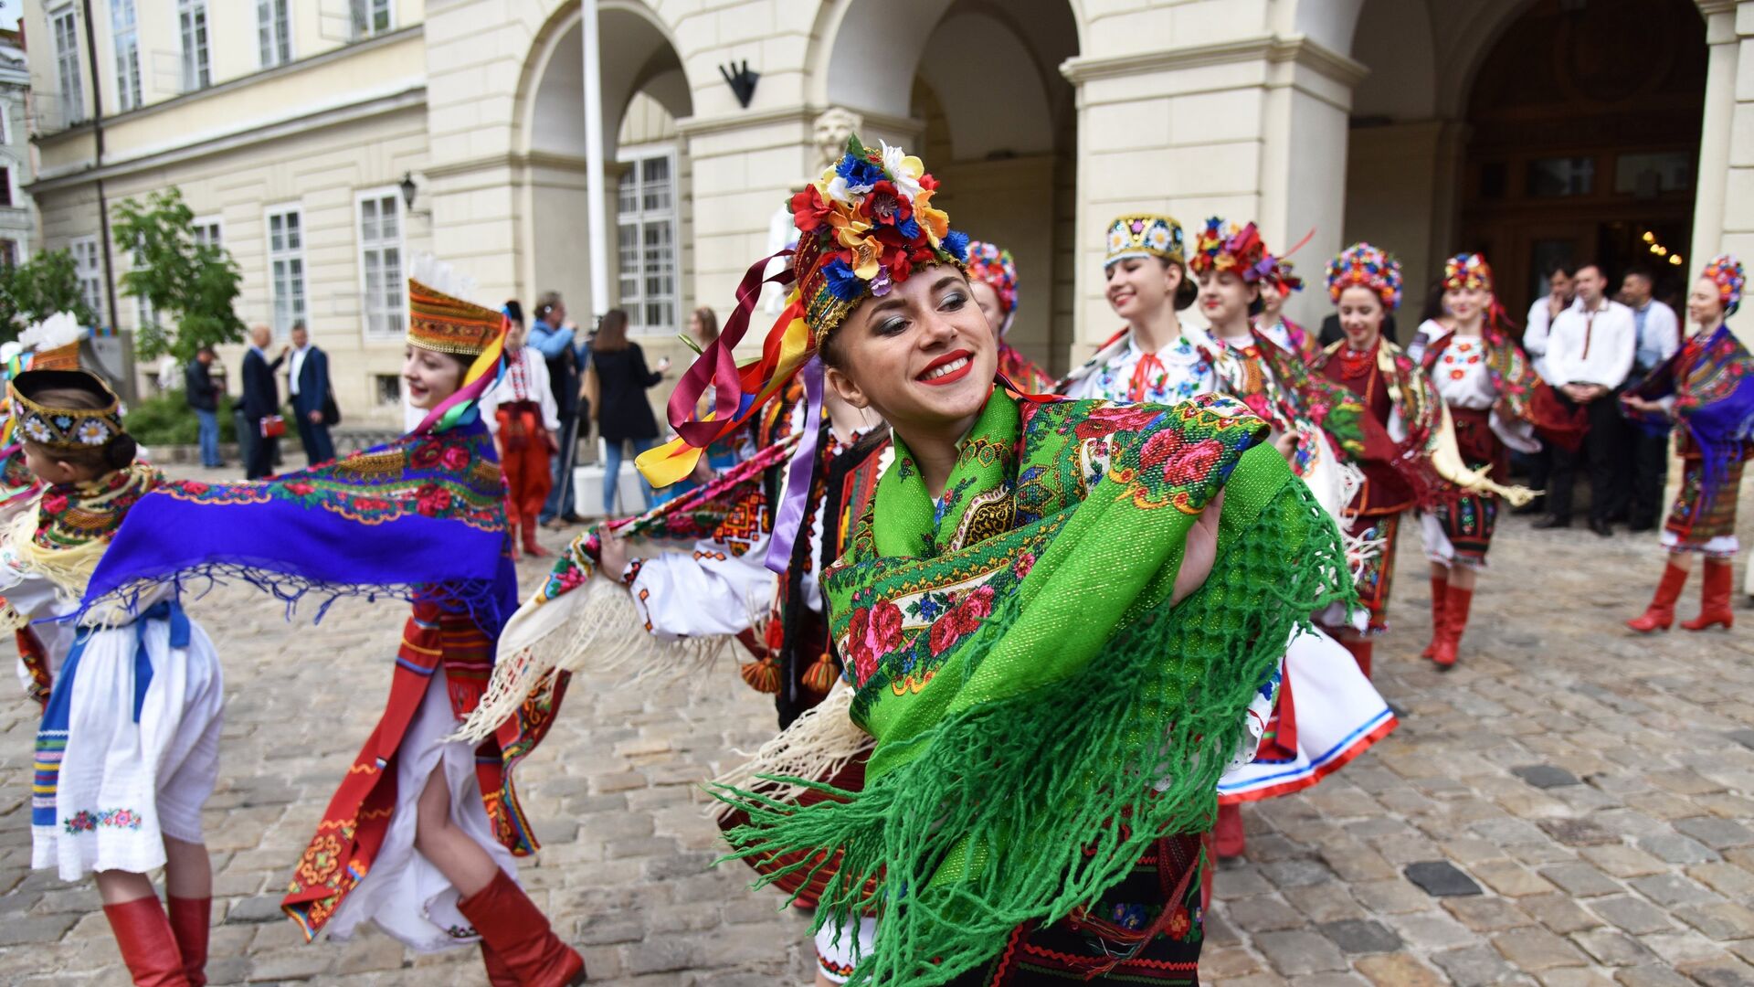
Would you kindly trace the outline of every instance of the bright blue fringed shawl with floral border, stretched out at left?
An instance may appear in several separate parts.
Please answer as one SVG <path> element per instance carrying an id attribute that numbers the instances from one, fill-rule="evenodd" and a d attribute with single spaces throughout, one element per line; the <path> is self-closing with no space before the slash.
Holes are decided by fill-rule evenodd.
<path id="1" fill-rule="evenodd" d="M 240 578 L 286 601 L 437 599 L 489 634 L 517 609 L 498 457 L 475 420 L 254 483 L 163 483 L 128 511 L 84 609 Z"/>

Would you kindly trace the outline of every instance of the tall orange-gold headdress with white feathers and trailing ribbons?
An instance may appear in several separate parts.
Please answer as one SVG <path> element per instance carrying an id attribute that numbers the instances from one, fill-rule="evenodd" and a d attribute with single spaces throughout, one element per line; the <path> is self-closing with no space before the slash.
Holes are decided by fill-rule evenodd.
<path id="1" fill-rule="evenodd" d="M 505 376 L 503 311 L 463 300 L 472 285 L 430 256 L 414 262 L 409 277 L 409 346 L 468 360 L 456 393 L 426 413 L 416 432 L 444 432 L 479 414 L 477 399 Z"/>

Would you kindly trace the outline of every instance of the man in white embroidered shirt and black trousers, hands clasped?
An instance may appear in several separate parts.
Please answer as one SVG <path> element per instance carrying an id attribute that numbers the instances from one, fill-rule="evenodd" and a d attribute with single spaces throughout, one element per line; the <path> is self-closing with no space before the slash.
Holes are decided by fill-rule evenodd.
<path id="1" fill-rule="evenodd" d="M 1554 450 L 1549 515 L 1535 523 L 1540 529 L 1570 527 L 1572 486 L 1582 457 L 1589 462 L 1589 530 L 1603 537 L 1614 534 L 1608 516 L 1621 508 L 1622 486 L 1614 474 L 1624 446 L 1617 392 L 1633 369 L 1638 327 L 1631 309 L 1608 300 L 1607 286 L 1598 265 L 1579 265 L 1577 300 L 1552 320 L 1547 335 L 1547 383 L 1559 392 L 1566 409 L 1586 409 L 1589 434 L 1575 453 Z"/>

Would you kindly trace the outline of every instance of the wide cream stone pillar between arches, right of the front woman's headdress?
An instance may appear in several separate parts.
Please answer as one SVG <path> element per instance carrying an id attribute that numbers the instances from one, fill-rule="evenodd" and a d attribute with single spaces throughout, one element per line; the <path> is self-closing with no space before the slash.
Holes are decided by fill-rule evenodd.
<path id="1" fill-rule="evenodd" d="M 1187 28 L 1182 37 L 1201 37 Z M 1114 42 L 1137 32 L 1117 28 Z M 1296 255 L 1305 270 L 1342 246 L 1347 112 L 1363 65 L 1305 35 L 1266 32 L 1080 56 L 1061 70 L 1079 90 L 1073 365 L 1117 328 L 1102 290 L 1105 227 L 1117 214 L 1168 213 L 1189 237 L 1207 216 L 1254 220 L 1280 251 L 1314 228 Z M 1310 292 L 1291 304 L 1296 320 L 1323 311 Z"/>

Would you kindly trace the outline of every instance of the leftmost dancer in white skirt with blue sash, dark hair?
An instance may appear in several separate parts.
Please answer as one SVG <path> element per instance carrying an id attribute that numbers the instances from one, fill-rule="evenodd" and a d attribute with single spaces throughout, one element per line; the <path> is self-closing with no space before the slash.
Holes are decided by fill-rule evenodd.
<path id="1" fill-rule="evenodd" d="M 116 395 L 84 371 L 26 371 L 11 386 L 25 460 L 46 485 L 0 548 L 4 620 L 68 616 L 128 509 L 160 483 L 135 460 Z M 202 804 L 219 769 L 219 655 L 168 594 L 88 609 L 44 634 L 54 685 L 37 732 L 32 868 L 96 873 L 135 983 L 207 982 L 212 866 Z M 51 625 L 54 627 L 54 625 Z M 165 868 L 165 906 L 153 869 Z"/>

